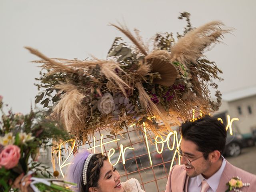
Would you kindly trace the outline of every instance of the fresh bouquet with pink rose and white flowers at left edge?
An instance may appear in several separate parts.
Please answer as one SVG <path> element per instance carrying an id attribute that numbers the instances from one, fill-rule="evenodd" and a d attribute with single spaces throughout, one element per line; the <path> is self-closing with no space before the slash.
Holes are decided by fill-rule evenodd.
<path id="1" fill-rule="evenodd" d="M 50 179 L 52 173 L 38 162 L 39 149 L 51 146 L 50 140 L 66 140 L 68 133 L 44 118 L 43 111 L 30 111 L 29 114 L 4 112 L 3 97 L 0 96 L 0 191 L 8 192 L 21 174 L 30 176 L 29 191 L 71 192 Z M 16 191 L 16 189 L 13 189 Z"/>

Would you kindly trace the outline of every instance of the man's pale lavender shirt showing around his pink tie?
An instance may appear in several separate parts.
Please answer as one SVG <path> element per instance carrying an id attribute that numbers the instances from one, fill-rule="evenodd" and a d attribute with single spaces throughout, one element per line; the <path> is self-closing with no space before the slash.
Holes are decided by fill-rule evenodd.
<path id="1" fill-rule="evenodd" d="M 226 166 L 226 160 L 222 156 L 222 164 L 219 168 L 219 170 L 214 173 L 210 178 L 205 179 L 202 174 L 196 176 L 197 177 L 197 185 L 198 187 L 202 184 L 202 180 L 206 180 L 206 182 L 209 184 L 210 188 L 212 188 L 213 191 L 216 191 L 220 182 L 220 177 L 222 175 L 222 172 L 224 171 L 224 168 Z"/>

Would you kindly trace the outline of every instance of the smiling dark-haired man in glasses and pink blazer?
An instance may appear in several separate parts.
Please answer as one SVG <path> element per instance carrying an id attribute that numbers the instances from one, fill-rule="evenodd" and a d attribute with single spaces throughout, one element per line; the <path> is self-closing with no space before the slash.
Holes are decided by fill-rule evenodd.
<path id="1" fill-rule="evenodd" d="M 210 116 L 188 121 L 182 124 L 180 133 L 183 138 L 177 152 L 182 165 L 170 171 L 165 192 L 225 192 L 226 184 L 235 176 L 244 184 L 250 183 L 237 189 L 256 192 L 256 176 L 233 166 L 221 155 L 227 132 L 220 121 Z M 239 183 L 231 180 L 230 184 Z"/>

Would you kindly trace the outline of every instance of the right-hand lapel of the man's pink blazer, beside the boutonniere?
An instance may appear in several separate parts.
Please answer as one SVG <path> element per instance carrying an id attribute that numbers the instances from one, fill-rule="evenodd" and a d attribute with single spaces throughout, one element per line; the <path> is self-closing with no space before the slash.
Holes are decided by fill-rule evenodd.
<path id="1" fill-rule="evenodd" d="M 236 176 L 236 171 L 234 169 L 234 167 L 232 166 L 232 164 L 230 164 L 227 160 L 226 160 L 226 166 L 223 170 L 223 173 L 220 177 L 220 183 L 218 185 L 218 188 L 216 190 L 216 192 L 223 192 L 226 191 L 228 189 L 228 186 L 226 185 L 226 183 L 232 178 Z"/>

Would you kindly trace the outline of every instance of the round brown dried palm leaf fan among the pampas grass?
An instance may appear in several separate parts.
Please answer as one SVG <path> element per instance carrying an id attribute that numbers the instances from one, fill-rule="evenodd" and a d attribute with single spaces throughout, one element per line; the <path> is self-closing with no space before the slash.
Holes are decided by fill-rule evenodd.
<path id="1" fill-rule="evenodd" d="M 166 87 L 174 84 L 178 73 L 175 66 L 171 63 L 169 52 L 157 50 L 148 54 L 145 60 L 148 64 L 151 64 L 153 73 L 158 72 L 161 75 L 161 79 L 154 78 L 153 83 Z"/>

